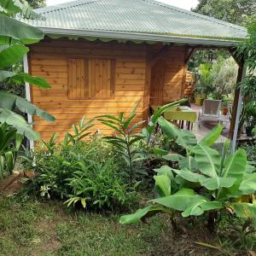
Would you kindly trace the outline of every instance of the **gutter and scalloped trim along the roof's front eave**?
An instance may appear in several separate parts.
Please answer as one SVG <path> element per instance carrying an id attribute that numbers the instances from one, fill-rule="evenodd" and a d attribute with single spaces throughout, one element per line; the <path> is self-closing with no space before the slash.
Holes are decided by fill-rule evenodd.
<path id="1" fill-rule="evenodd" d="M 136 40 L 142 42 L 155 42 L 155 43 L 175 43 L 175 44 L 189 44 L 189 45 L 203 45 L 203 46 L 215 46 L 215 47 L 234 47 L 242 40 L 227 40 L 224 38 L 190 38 L 183 36 L 170 36 L 162 34 L 148 34 L 148 33 L 136 33 L 136 32 L 111 32 L 100 30 L 79 30 L 79 29 L 63 29 L 63 28 L 51 28 L 51 27 L 38 27 L 44 31 L 46 35 L 55 35 L 60 37 L 80 37 L 80 38 L 109 38 L 109 39 L 122 39 L 122 40 Z"/>

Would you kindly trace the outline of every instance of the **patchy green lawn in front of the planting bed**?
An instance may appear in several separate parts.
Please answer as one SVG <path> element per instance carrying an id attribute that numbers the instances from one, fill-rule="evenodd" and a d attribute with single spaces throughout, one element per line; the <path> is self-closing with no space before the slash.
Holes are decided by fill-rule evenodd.
<path id="1" fill-rule="evenodd" d="M 214 255 L 195 245 L 208 236 L 199 227 L 174 234 L 164 215 L 129 226 L 118 218 L 0 195 L 0 255 Z"/>

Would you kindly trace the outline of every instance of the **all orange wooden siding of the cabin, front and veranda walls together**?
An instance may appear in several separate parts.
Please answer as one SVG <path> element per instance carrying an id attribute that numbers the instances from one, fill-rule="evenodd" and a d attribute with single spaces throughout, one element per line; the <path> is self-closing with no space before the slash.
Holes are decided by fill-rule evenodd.
<path id="1" fill-rule="evenodd" d="M 116 42 L 72 41 L 64 38 L 45 39 L 39 44 L 32 45 L 29 54 L 30 73 L 44 77 L 49 84 L 52 84 L 52 88 L 48 90 L 32 86 L 32 102 L 55 116 L 55 123 L 34 118 L 35 130 L 39 131 L 44 139 L 49 139 L 53 132 L 57 132 L 61 139 L 67 131 L 72 131 L 71 125 L 78 124 L 84 115 L 86 119 L 91 119 L 107 113 L 113 115 L 120 112 L 130 113 L 131 108 L 140 102 L 136 121 L 141 121 L 148 119 L 149 104 L 152 104 L 150 97 L 154 94 L 157 94 L 158 100 L 162 98 L 162 103 L 177 101 L 182 96 L 183 75 L 186 71 L 183 65 L 185 48 L 170 46 L 162 62 L 164 65 L 156 62 L 155 67 L 158 69 L 154 69 L 150 66 L 150 60 L 161 47 Z M 84 80 L 72 81 L 73 78 L 69 77 L 69 73 L 74 72 L 74 66 L 71 68 L 68 62 L 75 61 L 77 65 L 77 61 L 81 59 L 85 60 L 84 64 L 75 72 L 82 73 Z M 103 93 L 98 92 L 97 96 L 98 85 L 93 79 L 98 79 L 99 70 L 96 70 L 95 63 L 90 60 L 98 61 L 99 68 L 103 65 L 103 60 L 108 60 L 104 65 L 109 67 L 107 77 L 109 79 L 110 73 L 111 81 L 107 81 L 104 85 L 97 83 L 101 84 L 102 88 L 107 84 L 107 90 Z M 84 71 L 86 65 L 88 65 L 88 73 Z M 164 68 L 164 71 L 161 68 Z M 160 81 L 156 79 L 158 74 Z M 154 84 L 152 84 L 153 77 Z M 81 90 L 81 84 L 87 83 L 88 88 L 94 84 L 94 89 L 91 87 L 88 91 Z M 84 99 L 87 96 L 88 98 Z M 101 134 L 113 132 L 100 122 L 95 123 L 92 131 L 98 130 Z"/>

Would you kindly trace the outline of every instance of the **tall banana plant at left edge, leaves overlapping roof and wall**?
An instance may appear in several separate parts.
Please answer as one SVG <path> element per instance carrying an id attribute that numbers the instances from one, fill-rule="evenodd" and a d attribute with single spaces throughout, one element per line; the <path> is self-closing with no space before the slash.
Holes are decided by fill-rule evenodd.
<path id="1" fill-rule="evenodd" d="M 24 0 L 0 1 L 0 82 L 16 84 L 29 83 L 41 88 L 49 88 L 45 79 L 31 76 L 28 73 L 17 73 L 15 65 L 19 65 L 23 56 L 28 52 L 26 44 L 38 43 L 44 38 L 44 32 L 36 27 L 28 26 L 19 19 L 41 19 L 34 13 Z M 45 111 L 37 108 L 25 99 L 0 90 L 0 124 L 12 125 L 21 135 L 32 140 L 38 140 L 37 132 L 32 131 L 32 124 L 28 124 L 15 110 L 31 115 L 37 114 L 48 121 L 54 118 Z"/>

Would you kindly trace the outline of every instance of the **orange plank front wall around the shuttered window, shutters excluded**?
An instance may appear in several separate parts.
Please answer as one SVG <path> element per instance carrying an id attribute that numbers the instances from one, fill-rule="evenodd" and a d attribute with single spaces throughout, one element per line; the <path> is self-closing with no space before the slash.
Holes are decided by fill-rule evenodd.
<path id="1" fill-rule="evenodd" d="M 115 59 L 115 95 L 109 99 L 70 99 L 68 98 L 68 58 L 105 58 Z M 130 113 L 137 102 L 137 121 L 143 119 L 144 94 L 147 74 L 147 48 L 145 45 L 118 44 L 115 42 L 88 42 L 85 40 L 45 39 L 31 47 L 29 69 L 32 75 L 44 77 L 52 84 L 49 90 L 40 90 L 32 86 L 32 102 L 39 108 L 55 116 L 55 123 L 35 118 L 34 128 L 44 139 L 53 132 L 64 137 L 71 131 L 71 125 L 77 124 L 84 115 L 87 119 L 101 114 Z M 144 114 L 145 116 L 145 114 Z M 102 134 L 112 131 L 96 122 L 93 131 Z"/>

